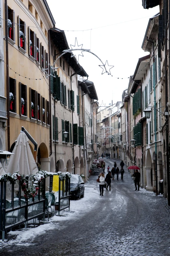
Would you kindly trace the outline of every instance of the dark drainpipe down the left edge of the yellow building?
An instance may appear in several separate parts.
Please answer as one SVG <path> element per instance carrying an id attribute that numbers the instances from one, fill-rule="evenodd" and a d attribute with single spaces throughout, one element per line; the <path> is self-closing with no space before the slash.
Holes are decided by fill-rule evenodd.
<path id="1" fill-rule="evenodd" d="M 5 43 L 6 43 L 6 85 L 7 85 L 7 150 L 10 151 L 10 122 L 9 122 L 9 62 L 8 62 L 8 6 L 5 0 Z"/>

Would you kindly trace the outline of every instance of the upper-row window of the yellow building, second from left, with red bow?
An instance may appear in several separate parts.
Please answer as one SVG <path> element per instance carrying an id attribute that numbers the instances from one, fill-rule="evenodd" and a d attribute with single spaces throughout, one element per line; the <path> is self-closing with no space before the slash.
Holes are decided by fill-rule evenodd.
<path id="1" fill-rule="evenodd" d="M 18 16 L 18 47 L 26 51 L 26 24 Z"/>

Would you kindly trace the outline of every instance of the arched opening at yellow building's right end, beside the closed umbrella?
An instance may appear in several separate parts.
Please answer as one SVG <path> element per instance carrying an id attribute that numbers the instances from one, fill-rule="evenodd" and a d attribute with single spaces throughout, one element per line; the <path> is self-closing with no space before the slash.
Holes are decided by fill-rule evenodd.
<path id="1" fill-rule="evenodd" d="M 48 148 L 44 142 L 42 142 L 37 151 L 37 167 L 43 171 L 50 171 L 50 157 Z"/>

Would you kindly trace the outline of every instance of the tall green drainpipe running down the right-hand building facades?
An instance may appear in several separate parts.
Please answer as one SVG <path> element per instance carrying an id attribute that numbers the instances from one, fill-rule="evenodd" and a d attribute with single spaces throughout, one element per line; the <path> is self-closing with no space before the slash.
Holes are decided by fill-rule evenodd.
<path id="1" fill-rule="evenodd" d="M 156 195 L 158 196 L 158 176 L 157 176 L 157 138 L 156 138 L 156 90 L 155 90 L 155 53 L 154 53 L 154 42 L 146 38 L 148 42 L 152 43 L 153 51 L 153 93 L 154 93 L 154 132 L 155 132 L 155 178 L 156 178 Z M 165 40 L 166 41 L 166 40 Z M 167 47 L 167 42 L 166 42 Z M 166 49 L 167 50 L 167 49 Z M 166 51 L 165 51 L 166 58 Z M 165 67 L 166 69 L 166 67 Z"/>

